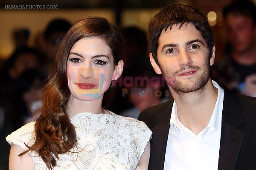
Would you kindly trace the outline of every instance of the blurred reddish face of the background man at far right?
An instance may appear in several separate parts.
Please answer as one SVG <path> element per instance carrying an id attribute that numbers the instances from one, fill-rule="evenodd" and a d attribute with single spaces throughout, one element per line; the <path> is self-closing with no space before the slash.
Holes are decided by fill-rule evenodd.
<path id="1" fill-rule="evenodd" d="M 252 47 L 256 38 L 256 27 L 250 17 L 228 14 L 225 23 L 234 51 L 243 52 Z"/>

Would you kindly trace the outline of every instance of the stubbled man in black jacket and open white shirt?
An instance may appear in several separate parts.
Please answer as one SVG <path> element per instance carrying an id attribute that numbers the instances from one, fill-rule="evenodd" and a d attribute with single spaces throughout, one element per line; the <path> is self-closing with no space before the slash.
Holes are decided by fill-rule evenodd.
<path id="1" fill-rule="evenodd" d="M 215 46 L 204 14 L 163 8 L 149 23 L 148 45 L 174 98 L 140 113 L 153 132 L 148 170 L 255 170 L 256 99 L 212 81 Z"/>

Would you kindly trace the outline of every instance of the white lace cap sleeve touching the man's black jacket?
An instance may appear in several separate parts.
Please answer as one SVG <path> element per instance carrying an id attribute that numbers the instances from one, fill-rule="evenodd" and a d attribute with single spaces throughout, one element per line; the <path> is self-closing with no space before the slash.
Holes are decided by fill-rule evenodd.
<path id="1" fill-rule="evenodd" d="M 141 129 L 141 134 L 139 138 L 139 143 L 140 143 L 140 157 L 141 157 L 146 149 L 148 142 L 151 139 L 152 132 L 148 128 L 148 126 L 142 121 L 140 121 L 140 129 Z"/>

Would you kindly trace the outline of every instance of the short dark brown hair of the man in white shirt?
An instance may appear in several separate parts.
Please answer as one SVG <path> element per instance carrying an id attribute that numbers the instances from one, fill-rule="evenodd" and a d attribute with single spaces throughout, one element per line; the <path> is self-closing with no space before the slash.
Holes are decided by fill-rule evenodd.
<path id="1" fill-rule="evenodd" d="M 212 48 L 214 46 L 212 38 L 212 30 L 204 14 L 197 8 L 187 5 L 175 4 L 163 8 L 150 20 L 147 31 L 147 39 L 149 51 L 152 53 L 154 60 L 157 60 L 157 48 L 160 34 L 163 30 L 172 28 L 175 24 L 192 23 L 195 28 L 201 33 L 207 43 L 209 56 L 212 56 Z"/>

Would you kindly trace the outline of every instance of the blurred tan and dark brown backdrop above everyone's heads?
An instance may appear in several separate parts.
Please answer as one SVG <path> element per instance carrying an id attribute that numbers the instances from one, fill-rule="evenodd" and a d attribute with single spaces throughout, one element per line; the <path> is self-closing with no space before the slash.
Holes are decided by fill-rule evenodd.
<path id="1" fill-rule="evenodd" d="M 73 24 L 86 16 L 101 16 L 118 26 L 137 26 L 145 31 L 154 14 L 174 3 L 195 6 L 206 16 L 210 11 L 215 12 L 209 17 L 212 18 L 212 31 L 218 45 L 217 54 L 221 56 L 227 40 L 221 11 L 231 2 L 233 0 L 1 0 L 0 59 L 3 62 L 14 51 L 13 32 L 18 29 L 27 29 L 30 46 L 35 45 L 37 36 L 55 18 L 64 18 Z M 5 9 L 5 5 L 57 5 L 58 9 Z"/>

